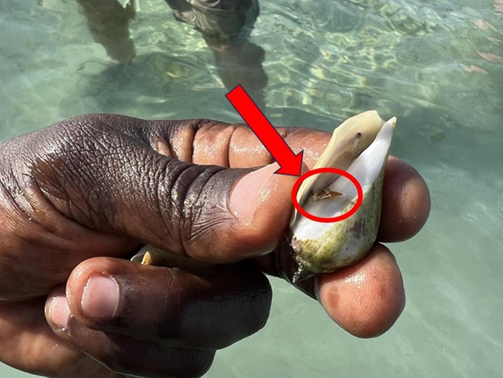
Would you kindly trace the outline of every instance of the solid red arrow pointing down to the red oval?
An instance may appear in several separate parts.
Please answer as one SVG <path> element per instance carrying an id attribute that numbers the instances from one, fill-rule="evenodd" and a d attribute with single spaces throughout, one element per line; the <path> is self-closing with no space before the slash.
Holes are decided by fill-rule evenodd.
<path id="1" fill-rule="evenodd" d="M 237 110 L 244 122 L 253 130 L 274 160 L 281 166 L 275 173 L 300 176 L 304 151 L 295 155 L 279 132 L 269 122 L 264 113 L 257 107 L 246 91 L 238 85 L 225 95 Z"/>

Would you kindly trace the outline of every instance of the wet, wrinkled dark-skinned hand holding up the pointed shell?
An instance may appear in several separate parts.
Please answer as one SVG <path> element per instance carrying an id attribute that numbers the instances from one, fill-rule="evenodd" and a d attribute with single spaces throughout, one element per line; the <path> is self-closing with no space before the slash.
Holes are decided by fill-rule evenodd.
<path id="1" fill-rule="evenodd" d="M 280 132 L 308 167 L 330 137 Z M 264 326 L 263 272 L 292 277 L 284 234 L 295 178 L 253 168 L 270 163 L 246 126 L 210 120 L 85 115 L 1 143 L 0 360 L 61 377 L 202 375 L 215 350 Z M 412 237 L 430 209 L 424 181 L 390 158 L 383 192 L 378 240 Z M 214 265 L 129 262 L 143 244 Z M 103 292 L 86 294 L 96 277 L 117 285 L 113 313 Z M 359 337 L 385 332 L 404 306 L 379 244 L 298 287 Z"/>

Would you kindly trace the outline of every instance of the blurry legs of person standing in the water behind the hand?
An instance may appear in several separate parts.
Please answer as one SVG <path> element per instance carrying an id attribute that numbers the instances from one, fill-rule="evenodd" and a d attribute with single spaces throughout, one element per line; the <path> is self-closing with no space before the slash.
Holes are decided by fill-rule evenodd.
<path id="1" fill-rule="evenodd" d="M 264 89 L 268 82 L 262 66 L 265 52 L 262 47 L 248 40 L 259 15 L 258 1 L 229 0 L 216 4 L 209 0 L 165 1 L 179 21 L 188 23 L 201 32 L 213 52 L 217 72 L 225 88 L 230 90 L 242 84 L 257 105 L 265 111 Z M 121 71 L 134 69 L 138 63 L 142 65 L 142 69 L 145 63 L 169 64 L 167 60 L 172 57 L 166 56 L 163 59 L 158 54 L 135 58 L 134 42 L 128 29 L 129 22 L 136 15 L 134 5 L 128 4 L 123 8 L 117 0 L 77 2 L 87 19 L 94 40 L 103 45 L 111 58 L 124 63 L 124 66 L 119 64 L 120 67 L 107 68 L 103 72 L 105 77 L 115 77 Z M 132 77 L 130 75 L 130 78 Z M 143 81 L 145 79 L 143 78 Z M 121 78 L 121 81 L 124 80 L 128 80 L 127 76 Z M 159 86 L 158 80 L 157 76 L 150 80 L 147 78 L 146 81 L 155 88 Z"/>

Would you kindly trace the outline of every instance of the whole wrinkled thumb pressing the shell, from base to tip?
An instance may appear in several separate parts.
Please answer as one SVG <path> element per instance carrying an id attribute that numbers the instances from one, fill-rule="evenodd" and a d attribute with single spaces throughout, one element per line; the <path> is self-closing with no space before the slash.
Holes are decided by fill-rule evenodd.
<path id="1" fill-rule="evenodd" d="M 206 262 L 266 254 L 285 233 L 296 177 L 274 174 L 276 163 L 199 166 L 99 123 L 91 131 L 66 127 L 59 140 L 71 143 L 32 147 L 45 156 L 37 184 L 66 217 Z"/>

